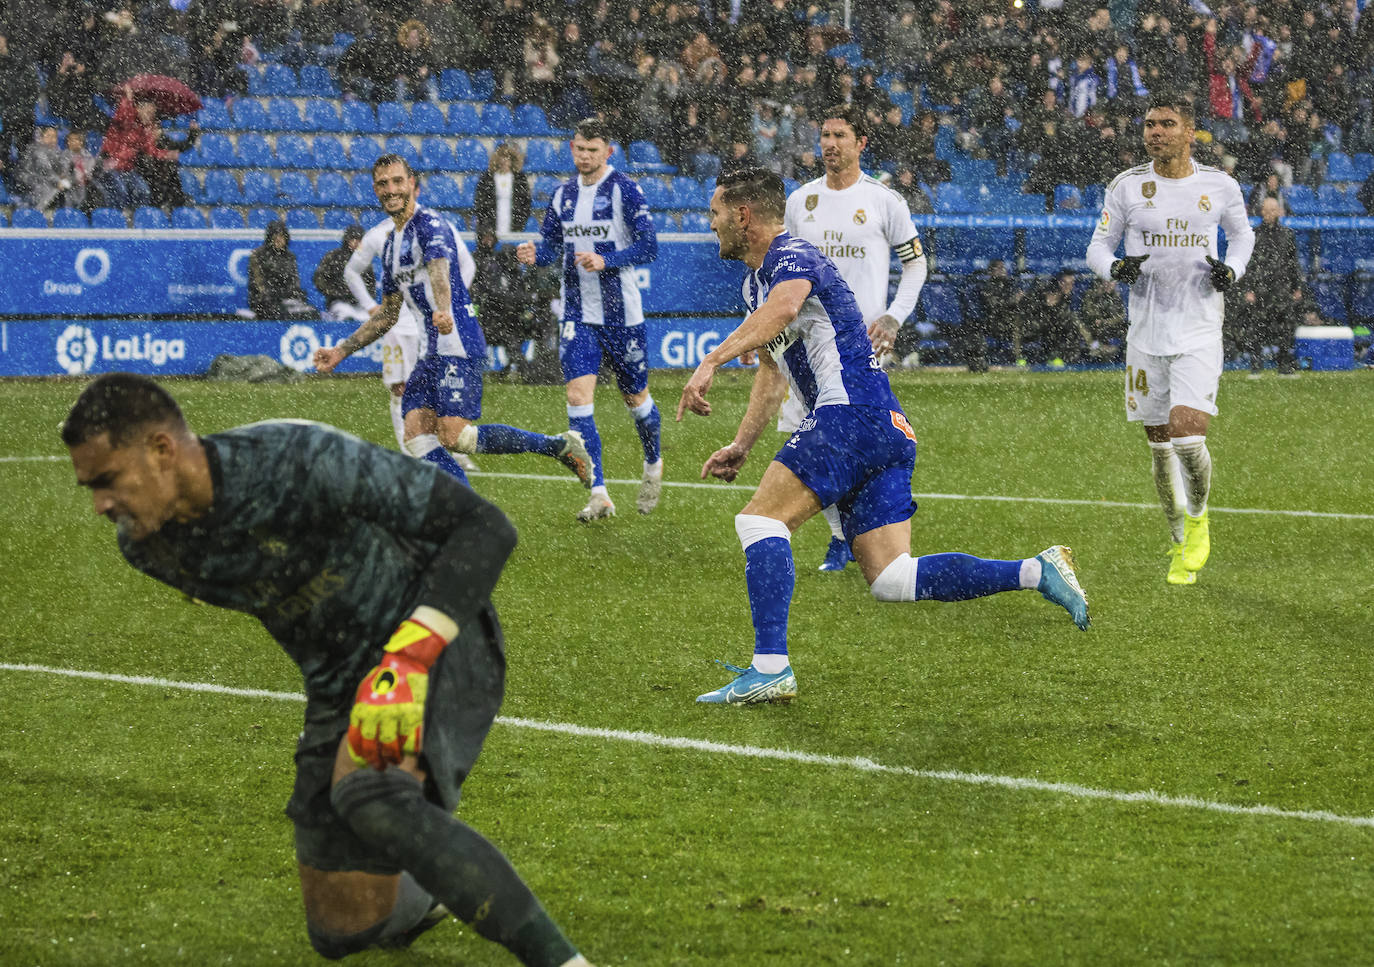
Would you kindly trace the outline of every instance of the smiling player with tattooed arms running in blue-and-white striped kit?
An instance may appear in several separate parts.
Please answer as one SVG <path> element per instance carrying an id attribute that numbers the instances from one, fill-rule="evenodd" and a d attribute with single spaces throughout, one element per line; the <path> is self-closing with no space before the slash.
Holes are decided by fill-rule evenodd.
<path id="1" fill-rule="evenodd" d="M 467 297 L 462 265 L 467 246 L 437 212 L 416 201 L 415 172 L 404 158 L 383 154 L 372 165 L 372 190 L 390 216 L 382 246 L 382 308 L 342 342 L 315 352 L 315 368 L 330 372 L 354 350 L 390 330 L 408 305 L 425 326 L 425 342 L 401 393 L 405 451 L 458 479 L 467 475 L 449 451 L 460 453 L 541 453 L 591 486 L 591 457 L 576 430 L 550 437 L 482 415 L 486 341 Z M 475 271 L 475 269 L 474 269 Z M 471 272 L 467 275 L 471 279 Z"/>

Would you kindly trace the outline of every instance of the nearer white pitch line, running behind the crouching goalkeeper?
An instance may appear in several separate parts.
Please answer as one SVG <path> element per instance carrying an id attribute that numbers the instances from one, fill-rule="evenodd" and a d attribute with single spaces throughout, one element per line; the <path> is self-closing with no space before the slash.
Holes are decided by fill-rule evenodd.
<path id="1" fill-rule="evenodd" d="M 273 692 L 262 688 L 231 688 L 216 685 L 207 681 L 176 681 L 173 679 L 158 679 L 143 674 L 111 674 L 107 672 L 88 672 L 73 668 L 52 668 L 48 665 L 11 665 L 0 662 L 0 670 L 5 672 L 36 672 L 38 674 L 55 674 L 69 679 L 89 679 L 95 681 L 113 681 L 129 685 L 154 685 L 157 688 L 180 688 L 191 692 L 210 692 L 214 695 L 234 695 L 239 698 L 269 698 L 280 702 L 304 702 L 305 696 L 298 692 Z M 915 769 L 908 765 L 883 765 L 863 755 L 820 755 L 816 753 L 802 753 L 790 749 L 768 749 L 765 746 L 735 746 L 724 742 L 709 742 L 706 739 L 687 739 L 683 736 L 658 735 L 655 732 L 627 732 L 616 728 L 595 728 L 589 725 L 574 725 L 572 723 L 545 723 L 537 718 L 518 718 L 513 716 L 497 716 L 497 724 L 511 728 L 528 728 L 536 732 L 555 732 L 578 739 L 606 739 L 610 742 L 631 742 L 655 749 L 672 749 L 677 751 L 712 753 L 716 755 L 738 755 L 742 758 L 761 758 L 776 762 L 798 762 L 801 765 L 823 765 L 834 769 L 853 769 L 856 772 L 882 773 L 892 776 L 908 776 L 911 779 L 925 779 L 927 782 L 960 783 L 965 786 L 992 786 L 1017 793 L 1051 793 L 1066 795 L 1074 799 L 1101 799 L 1106 802 L 1121 802 L 1128 805 L 1145 804 L 1150 806 L 1172 806 L 1178 809 L 1198 809 L 1212 813 L 1226 813 L 1230 816 L 1263 816 L 1267 819 L 1297 819 L 1311 823 L 1336 823 L 1340 826 L 1355 826 L 1374 828 L 1374 816 L 1345 816 L 1326 809 L 1279 809 L 1276 806 L 1238 806 L 1231 802 L 1215 802 L 1200 799 L 1191 795 L 1168 795 L 1154 790 L 1139 793 L 1123 793 L 1120 790 L 1095 788 L 1092 786 L 1079 786 L 1077 783 L 1050 783 L 1040 779 L 1022 779 L 1018 776 L 996 776 L 982 772 L 960 772 L 956 769 Z"/>

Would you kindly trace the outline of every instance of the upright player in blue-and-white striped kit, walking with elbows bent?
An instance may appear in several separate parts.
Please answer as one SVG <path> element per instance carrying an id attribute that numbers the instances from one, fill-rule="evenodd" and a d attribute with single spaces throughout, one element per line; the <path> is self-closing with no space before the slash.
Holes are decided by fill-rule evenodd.
<path id="1" fill-rule="evenodd" d="M 625 407 L 635 418 L 644 451 L 644 474 L 635 505 L 649 514 L 664 485 L 658 407 L 649 394 L 649 352 L 644 310 L 635 266 L 658 257 L 658 235 L 644 194 L 610 163 L 610 139 L 596 118 L 573 129 L 577 174 L 561 184 L 544 212 L 540 242 L 522 242 L 517 257 L 526 265 L 563 265 L 563 326 L 558 356 L 567 385 L 567 424 L 587 441 L 595 464 L 591 499 L 578 521 L 614 516 L 606 490 L 602 442 L 592 416 L 596 374 L 602 361 L 616 371 Z"/>

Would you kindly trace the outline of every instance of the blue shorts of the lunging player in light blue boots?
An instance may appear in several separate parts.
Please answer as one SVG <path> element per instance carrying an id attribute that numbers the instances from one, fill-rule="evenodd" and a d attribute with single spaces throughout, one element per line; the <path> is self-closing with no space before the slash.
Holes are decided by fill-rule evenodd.
<path id="1" fill-rule="evenodd" d="M 916 435 L 900 411 L 879 407 L 822 407 L 791 434 L 778 463 L 816 494 L 835 504 L 845 540 L 911 519 L 911 477 Z"/>

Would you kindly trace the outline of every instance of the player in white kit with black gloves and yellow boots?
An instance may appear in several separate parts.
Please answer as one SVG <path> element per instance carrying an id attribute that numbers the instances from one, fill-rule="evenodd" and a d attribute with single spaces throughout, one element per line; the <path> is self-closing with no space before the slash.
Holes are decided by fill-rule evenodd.
<path id="1" fill-rule="evenodd" d="M 1241 187 L 1193 161 L 1193 103 L 1157 93 L 1145 114 L 1150 161 L 1107 185 L 1088 266 L 1131 287 L 1125 418 L 1145 424 L 1154 486 L 1169 523 L 1169 584 L 1193 584 L 1212 551 L 1206 430 L 1221 379 L 1221 293 L 1254 250 Z M 1226 231 L 1226 261 L 1216 229 Z M 1116 257 L 1125 239 L 1125 254 Z M 1179 490 L 1183 492 L 1180 507 Z"/>

